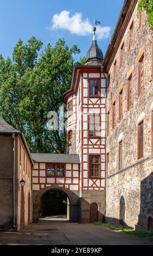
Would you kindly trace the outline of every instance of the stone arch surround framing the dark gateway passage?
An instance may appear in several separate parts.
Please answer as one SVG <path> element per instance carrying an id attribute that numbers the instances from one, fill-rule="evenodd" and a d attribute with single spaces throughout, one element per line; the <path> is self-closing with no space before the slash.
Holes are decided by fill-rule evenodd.
<path id="1" fill-rule="evenodd" d="M 74 191 L 58 185 L 42 188 L 39 191 L 33 191 L 33 222 L 39 221 L 39 209 L 41 197 L 50 190 L 63 191 L 70 202 L 70 222 L 79 222 L 79 196 Z"/>

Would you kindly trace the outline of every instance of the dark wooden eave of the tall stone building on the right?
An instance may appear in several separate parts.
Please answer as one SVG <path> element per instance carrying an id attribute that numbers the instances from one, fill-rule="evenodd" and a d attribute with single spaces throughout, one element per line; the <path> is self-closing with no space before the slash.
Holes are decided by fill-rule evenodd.
<path id="1" fill-rule="evenodd" d="M 127 26 L 128 21 L 130 21 L 131 16 L 133 14 L 133 10 L 137 4 L 138 0 L 125 0 L 123 7 L 120 11 L 119 19 L 117 21 L 117 25 L 115 26 L 114 33 L 112 35 L 111 41 L 109 42 L 105 58 L 103 59 L 103 66 L 105 70 L 108 72 L 109 67 L 111 65 L 111 61 L 115 53 L 118 50 L 117 45 L 120 44 L 122 35 L 124 34 Z"/>

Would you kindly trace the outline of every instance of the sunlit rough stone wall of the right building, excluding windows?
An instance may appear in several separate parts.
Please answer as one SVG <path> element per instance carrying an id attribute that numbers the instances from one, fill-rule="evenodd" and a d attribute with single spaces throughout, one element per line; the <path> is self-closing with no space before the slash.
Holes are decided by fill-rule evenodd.
<path id="1" fill-rule="evenodd" d="M 134 41 L 131 51 L 128 50 L 129 28 L 133 21 Z M 124 41 L 124 62 L 120 68 L 120 47 Z M 146 229 L 148 214 L 153 214 L 147 180 L 152 173 L 151 153 L 151 110 L 153 108 L 153 90 L 151 77 L 151 41 L 152 32 L 146 19 L 139 29 L 137 7 L 131 14 L 126 32 L 112 62 L 109 73 L 111 84 L 107 95 L 107 111 L 110 109 L 110 135 L 107 137 L 109 153 L 109 177 L 107 178 L 106 216 L 107 221 L 119 221 L 120 197 L 125 198 L 125 221 L 130 227 Z M 138 59 L 144 52 L 145 89 L 138 97 Z M 117 79 L 113 81 L 113 63 L 117 59 Z M 132 73 L 132 107 L 127 111 L 127 80 Z M 123 87 L 123 118 L 119 121 L 119 90 Z M 112 103 L 116 100 L 116 126 L 112 129 Z M 144 120 L 144 157 L 137 157 L 137 127 Z M 123 140 L 123 169 L 119 171 L 119 141 Z M 150 181 L 151 182 L 151 181 Z M 151 192 L 150 192 L 151 193 Z M 144 205 L 144 200 L 146 203 Z M 143 209 L 143 210 L 142 210 Z M 143 214 L 142 214 L 143 211 Z"/>

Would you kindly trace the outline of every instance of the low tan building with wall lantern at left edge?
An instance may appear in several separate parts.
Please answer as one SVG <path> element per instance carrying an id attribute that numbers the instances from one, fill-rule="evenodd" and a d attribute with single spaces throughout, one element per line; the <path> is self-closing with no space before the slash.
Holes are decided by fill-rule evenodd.
<path id="1" fill-rule="evenodd" d="M 32 220 L 33 160 L 23 134 L 2 118 L 0 145 L 0 230 L 19 231 Z"/>

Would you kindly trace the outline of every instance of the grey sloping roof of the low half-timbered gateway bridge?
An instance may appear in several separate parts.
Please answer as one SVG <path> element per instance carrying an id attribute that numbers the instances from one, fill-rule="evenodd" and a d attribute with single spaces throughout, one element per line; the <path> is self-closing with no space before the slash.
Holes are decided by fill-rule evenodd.
<path id="1" fill-rule="evenodd" d="M 79 155 L 75 154 L 31 154 L 34 162 L 48 163 L 80 163 Z"/>

